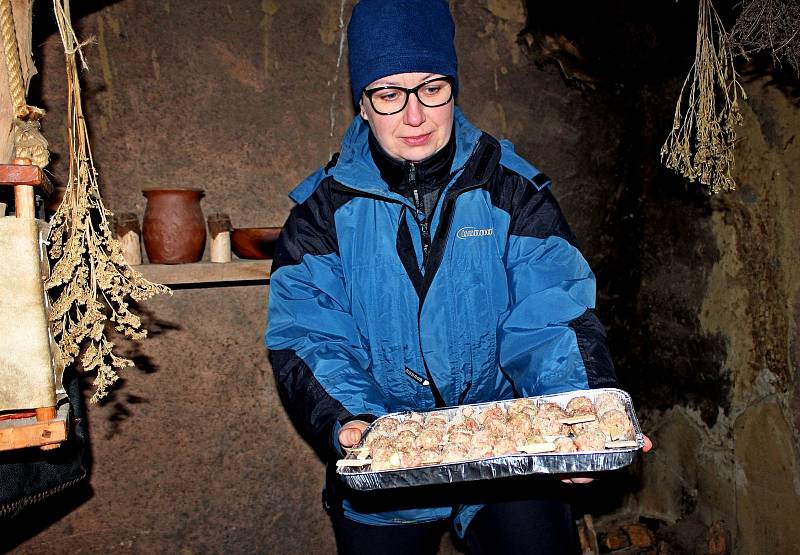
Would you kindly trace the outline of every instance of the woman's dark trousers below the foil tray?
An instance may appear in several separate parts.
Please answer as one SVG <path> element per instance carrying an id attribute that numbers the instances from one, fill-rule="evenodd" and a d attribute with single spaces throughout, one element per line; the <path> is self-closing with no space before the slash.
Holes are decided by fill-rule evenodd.
<path id="1" fill-rule="evenodd" d="M 372 526 L 332 512 L 339 555 L 435 555 L 449 520 Z M 473 518 L 464 535 L 471 555 L 572 555 L 580 553 L 569 505 L 555 500 L 491 503 Z"/>

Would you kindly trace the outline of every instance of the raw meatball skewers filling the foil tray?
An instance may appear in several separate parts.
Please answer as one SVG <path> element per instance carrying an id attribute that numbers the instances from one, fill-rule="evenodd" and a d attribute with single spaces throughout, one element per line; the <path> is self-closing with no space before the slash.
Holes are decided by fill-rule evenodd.
<path id="1" fill-rule="evenodd" d="M 578 395 L 564 406 L 523 398 L 384 416 L 352 450 L 358 460 L 344 466 L 382 471 L 523 453 L 603 452 L 636 446 L 633 440 L 625 403 L 612 393 L 594 400 Z"/>

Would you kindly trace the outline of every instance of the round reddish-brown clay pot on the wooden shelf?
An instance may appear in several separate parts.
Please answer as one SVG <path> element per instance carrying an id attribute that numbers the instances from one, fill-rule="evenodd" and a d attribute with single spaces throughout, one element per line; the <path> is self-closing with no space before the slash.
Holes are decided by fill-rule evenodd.
<path id="1" fill-rule="evenodd" d="M 142 239 L 151 264 L 185 264 L 203 258 L 206 223 L 202 189 L 145 189 Z"/>

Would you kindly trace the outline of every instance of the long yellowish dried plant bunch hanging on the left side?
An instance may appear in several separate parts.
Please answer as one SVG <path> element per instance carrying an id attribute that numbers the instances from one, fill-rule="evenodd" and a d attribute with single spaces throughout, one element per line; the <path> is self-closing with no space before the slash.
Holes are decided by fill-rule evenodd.
<path id="1" fill-rule="evenodd" d="M 54 293 L 50 310 L 53 333 L 64 363 L 80 360 L 84 371 L 96 371 L 92 401 L 101 399 L 118 379 L 117 369 L 133 366 L 114 354 L 106 324 L 130 339 L 143 339 L 147 330 L 128 305 L 169 292 L 132 269 L 111 233 L 109 217 L 97 183 L 89 134 L 81 107 L 76 55 L 86 67 L 72 29 L 69 0 L 53 0 L 67 64 L 69 183 L 61 207 L 50 221 L 50 257 L 56 260 L 46 283 Z"/>

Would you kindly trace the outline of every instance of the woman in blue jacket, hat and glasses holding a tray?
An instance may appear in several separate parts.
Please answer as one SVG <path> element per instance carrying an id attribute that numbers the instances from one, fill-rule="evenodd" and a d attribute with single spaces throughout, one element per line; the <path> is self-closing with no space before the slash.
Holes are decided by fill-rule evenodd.
<path id="1" fill-rule="evenodd" d="M 445 0 L 361 0 L 359 115 L 338 159 L 291 193 L 266 343 L 329 462 L 389 412 L 617 385 L 550 180 L 455 107 L 453 37 Z M 448 522 L 474 553 L 577 550 L 559 501 L 358 496 L 332 472 L 325 493 L 340 553 L 434 553 Z"/>

